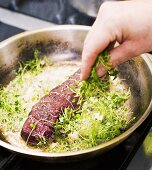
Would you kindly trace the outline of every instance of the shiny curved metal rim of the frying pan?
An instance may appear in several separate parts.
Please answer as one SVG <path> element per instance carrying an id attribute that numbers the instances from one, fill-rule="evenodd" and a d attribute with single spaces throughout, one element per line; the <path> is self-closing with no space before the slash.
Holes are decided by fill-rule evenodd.
<path id="1" fill-rule="evenodd" d="M 60 25 L 60 26 L 51 26 L 48 28 L 43 28 L 43 29 L 38 29 L 38 30 L 32 30 L 32 31 L 25 31 L 23 33 L 17 34 L 13 37 L 10 37 L 2 42 L 0 42 L 0 49 L 6 45 L 8 45 L 9 43 L 12 43 L 13 41 L 16 41 L 22 37 L 26 37 L 29 35 L 33 35 L 36 33 L 40 33 L 40 32 L 45 32 L 45 31 L 57 31 L 57 30 L 84 30 L 84 31 L 89 31 L 91 27 L 90 26 L 81 26 L 81 25 Z M 150 62 L 152 62 L 152 60 L 150 58 L 146 58 L 144 56 L 142 56 L 143 60 L 147 63 L 147 65 L 149 65 L 149 69 L 151 71 L 152 74 L 152 67 L 150 67 L 151 64 L 149 64 Z M 6 143 L 2 140 L 0 140 L 0 146 L 12 151 L 12 152 L 16 152 L 16 153 L 20 153 L 20 154 L 24 154 L 24 155 L 29 155 L 29 156 L 35 156 L 35 157 L 44 157 L 44 158 L 62 158 L 62 157 L 69 157 L 69 156 L 78 156 L 78 155 L 83 155 L 83 154 L 88 154 L 88 153 L 92 153 L 92 152 L 96 152 L 102 148 L 109 148 L 110 146 L 112 146 L 114 143 L 119 143 L 120 141 L 123 141 L 123 139 L 126 139 L 129 135 L 132 134 L 133 131 L 135 131 L 142 123 L 143 121 L 149 116 L 150 112 L 152 110 L 152 99 L 149 102 L 149 106 L 146 109 L 145 113 L 141 116 L 141 118 L 132 126 L 130 127 L 128 130 L 126 130 L 124 133 L 122 133 L 121 135 L 119 135 L 118 137 L 102 143 L 98 146 L 94 146 L 92 148 L 88 148 L 88 149 L 84 149 L 84 150 L 79 150 L 79 151 L 72 151 L 72 152 L 61 152 L 61 153 L 48 153 L 48 152 L 40 152 L 40 151 L 32 151 L 32 150 L 26 150 L 23 148 L 19 148 L 17 146 L 11 145 L 9 143 Z"/>

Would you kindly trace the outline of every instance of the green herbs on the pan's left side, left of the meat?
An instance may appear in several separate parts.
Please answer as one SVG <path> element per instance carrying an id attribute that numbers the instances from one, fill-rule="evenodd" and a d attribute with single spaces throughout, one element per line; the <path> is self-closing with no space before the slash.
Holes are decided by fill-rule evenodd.
<path id="1" fill-rule="evenodd" d="M 4 131 L 19 131 L 23 120 L 27 117 L 29 108 L 36 103 L 42 95 L 46 94 L 48 87 L 39 87 L 34 91 L 32 102 L 26 99 L 24 93 L 28 92 L 34 77 L 42 72 L 48 63 L 39 58 L 38 50 L 34 52 L 34 58 L 30 61 L 20 62 L 16 72 L 16 78 L 6 87 L 0 88 L 0 128 Z M 33 91 L 29 91 L 32 96 Z M 3 123 L 5 122 L 5 123 Z M 32 126 L 32 125 L 31 125 Z"/>

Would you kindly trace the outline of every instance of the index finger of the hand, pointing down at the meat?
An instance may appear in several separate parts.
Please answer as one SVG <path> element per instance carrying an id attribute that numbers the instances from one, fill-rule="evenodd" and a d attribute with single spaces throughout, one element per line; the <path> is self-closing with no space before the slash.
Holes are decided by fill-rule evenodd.
<path id="1" fill-rule="evenodd" d="M 86 80 L 95 63 L 97 55 L 112 42 L 108 29 L 102 22 L 96 20 L 89 31 L 82 51 L 81 79 Z"/>

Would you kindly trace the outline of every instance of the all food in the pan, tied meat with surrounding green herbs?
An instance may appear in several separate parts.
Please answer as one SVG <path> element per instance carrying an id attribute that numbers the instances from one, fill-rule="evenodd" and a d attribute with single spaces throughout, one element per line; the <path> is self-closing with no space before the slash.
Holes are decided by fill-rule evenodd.
<path id="1" fill-rule="evenodd" d="M 80 63 L 50 65 L 35 51 L 34 59 L 21 63 L 16 78 L 0 91 L 0 127 L 6 139 L 25 148 L 66 152 L 90 148 L 123 133 L 132 121 L 131 93 L 125 80 L 115 78 L 109 69 L 107 56 L 102 54 L 88 81 L 80 82 L 76 72 Z M 109 72 L 104 79 L 95 71 L 101 60 Z"/>

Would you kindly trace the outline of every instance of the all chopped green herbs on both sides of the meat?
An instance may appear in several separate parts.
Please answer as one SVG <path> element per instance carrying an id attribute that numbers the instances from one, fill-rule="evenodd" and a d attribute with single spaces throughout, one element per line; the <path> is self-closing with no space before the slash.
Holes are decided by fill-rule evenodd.
<path id="1" fill-rule="evenodd" d="M 113 88 L 113 76 L 116 72 L 109 64 L 109 54 L 101 53 L 87 81 L 76 82 L 78 88 L 70 85 L 70 89 L 79 97 L 77 110 L 64 109 L 54 129 L 54 139 L 48 143 L 43 136 L 39 137 L 38 145 L 48 152 L 77 151 L 96 146 L 120 135 L 131 120 L 127 120 L 130 110 L 125 106 L 130 90 Z M 96 68 L 103 63 L 108 71 L 104 79 L 96 74 Z M 20 63 L 16 78 L 6 87 L 0 89 L 0 127 L 8 132 L 20 132 L 24 120 L 32 106 L 50 91 L 50 84 L 38 81 L 29 88 L 35 77 L 43 72 L 46 61 L 39 58 L 35 50 L 34 59 Z M 111 72 L 114 72 L 112 74 Z M 116 78 L 118 86 L 121 83 Z M 62 89 L 64 91 L 64 89 Z M 76 99 L 72 100 L 75 103 Z M 30 124 L 31 129 L 36 124 Z"/>

